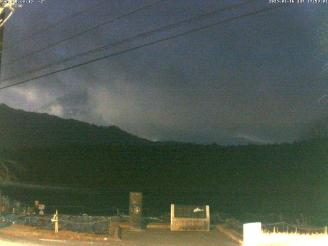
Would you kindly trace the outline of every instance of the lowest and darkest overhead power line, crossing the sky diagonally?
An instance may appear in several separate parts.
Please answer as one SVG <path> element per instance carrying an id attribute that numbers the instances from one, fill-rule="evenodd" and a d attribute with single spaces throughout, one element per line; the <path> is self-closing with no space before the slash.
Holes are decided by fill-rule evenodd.
<path id="1" fill-rule="evenodd" d="M 233 20 L 253 16 L 253 15 L 265 12 L 265 11 L 270 11 L 270 10 L 273 10 L 273 9 L 277 9 L 277 8 L 280 8 L 280 7 L 283 7 L 283 6 L 289 6 L 289 5 L 290 4 L 275 5 L 275 6 L 270 7 L 270 8 L 264 8 L 264 9 L 260 9 L 260 10 L 257 10 L 257 11 L 251 12 L 251 13 L 247 13 L 247 14 L 236 16 L 236 17 L 232 17 L 232 18 L 229 18 L 229 19 L 226 19 L 226 20 L 221 20 L 220 22 L 216 22 L 216 23 L 213 23 L 213 24 L 210 24 L 210 25 L 207 25 L 207 26 L 195 28 L 195 29 L 192 29 L 192 30 L 189 30 L 189 31 L 186 31 L 186 32 L 182 32 L 182 33 L 179 33 L 179 34 L 175 34 L 175 35 L 172 35 L 172 36 L 169 36 L 169 37 L 166 37 L 166 38 L 162 38 L 162 39 L 159 39 L 159 40 L 156 40 L 156 41 L 144 44 L 144 45 L 135 46 L 135 47 L 130 48 L 130 49 L 126 49 L 126 50 L 123 50 L 123 51 L 112 53 L 110 55 L 106 55 L 106 56 L 103 56 L 103 57 L 92 59 L 92 60 L 86 61 L 84 63 L 77 64 L 77 65 L 74 65 L 74 66 L 71 66 L 71 67 L 67 67 L 67 68 L 56 70 L 56 71 L 53 71 L 53 72 L 50 72 L 50 73 L 47 73 L 47 74 L 43 74 L 43 75 L 40 75 L 40 76 L 29 78 L 29 79 L 20 81 L 18 83 L 14 83 L 14 84 L 11 84 L 11 85 L 8 85 L 8 86 L 1 87 L 0 90 L 6 89 L 6 88 L 9 88 L 9 87 L 13 87 L 13 86 L 16 86 L 16 85 L 20 85 L 20 84 L 23 84 L 23 83 L 27 83 L 29 81 L 39 79 L 39 78 L 43 78 L 43 77 L 46 77 L 46 76 L 49 76 L 49 75 L 52 75 L 52 74 L 56 74 L 56 73 L 59 73 L 59 72 L 64 72 L 64 71 L 67 71 L 67 70 L 70 70 L 70 69 L 73 69 L 73 68 L 77 68 L 77 67 L 80 67 L 80 66 L 84 66 L 84 65 L 87 65 L 87 64 L 90 64 L 90 63 L 94 63 L 95 61 L 103 60 L 103 59 L 106 59 L 106 58 L 109 58 L 109 57 L 112 57 L 112 56 L 116 56 L 116 55 L 119 55 L 119 54 L 123 54 L 123 53 L 129 52 L 129 51 L 132 51 L 132 50 L 137 50 L 137 49 L 144 48 L 144 47 L 147 47 L 147 46 L 150 46 L 150 45 L 165 42 L 165 41 L 173 39 L 173 38 L 177 38 L 177 37 L 180 37 L 180 36 L 183 36 L 183 35 L 194 33 L 194 32 L 197 32 L 197 31 L 200 31 L 200 30 L 203 30 L 203 29 L 207 29 L 207 28 L 210 28 L 210 27 L 214 27 L 214 26 L 217 26 L 217 25 L 220 25 L 220 24 L 229 23 L 229 22 L 232 22 Z"/>

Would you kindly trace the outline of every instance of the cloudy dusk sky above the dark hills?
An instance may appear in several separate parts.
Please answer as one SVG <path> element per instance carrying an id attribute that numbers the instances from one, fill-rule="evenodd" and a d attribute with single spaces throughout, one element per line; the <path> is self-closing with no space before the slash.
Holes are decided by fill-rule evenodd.
<path id="1" fill-rule="evenodd" d="M 2 79 L 246 1 L 162 1 L 12 63 L 155 1 L 108 0 L 26 39 L 102 1 L 34 2 L 17 8 L 6 23 Z M 254 1 L 240 9 L 3 81 L 0 87 L 274 5 Z M 320 120 L 328 110 L 328 97 L 319 100 L 328 94 L 324 67 L 328 62 L 327 13 L 328 3 L 285 4 L 0 90 L 0 103 L 96 125 L 115 125 L 151 140 L 218 144 L 237 137 L 265 143 L 299 140 L 304 126 Z"/>

